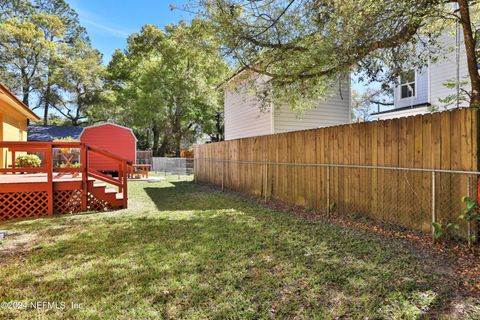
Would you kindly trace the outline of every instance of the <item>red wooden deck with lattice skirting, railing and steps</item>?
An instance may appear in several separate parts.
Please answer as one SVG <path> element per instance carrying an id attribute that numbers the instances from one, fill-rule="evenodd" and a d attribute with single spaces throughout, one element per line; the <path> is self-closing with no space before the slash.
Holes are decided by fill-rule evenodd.
<path id="1" fill-rule="evenodd" d="M 12 159 L 11 166 L 0 168 L 0 220 L 127 208 L 128 160 L 81 142 L 0 141 L 0 148 Z M 40 166 L 19 167 L 16 154 L 22 152 L 40 154 Z M 115 162 L 118 177 L 90 167 L 92 154 Z"/>

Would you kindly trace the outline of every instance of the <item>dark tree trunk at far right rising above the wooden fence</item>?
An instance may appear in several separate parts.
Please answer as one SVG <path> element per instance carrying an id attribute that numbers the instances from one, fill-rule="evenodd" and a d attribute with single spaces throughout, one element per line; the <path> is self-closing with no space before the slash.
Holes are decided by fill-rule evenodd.
<path id="1" fill-rule="evenodd" d="M 458 0 L 460 7 L 460 24 L 463 29 L 463 41 L 467 55 L 468 74 L 472 85 L 470 107 L 480 107 L 480 76 L 478 75 L 477 56 L 475 53 L 475 39 L 470 22 L 470 7 L 468 0 Z"/>

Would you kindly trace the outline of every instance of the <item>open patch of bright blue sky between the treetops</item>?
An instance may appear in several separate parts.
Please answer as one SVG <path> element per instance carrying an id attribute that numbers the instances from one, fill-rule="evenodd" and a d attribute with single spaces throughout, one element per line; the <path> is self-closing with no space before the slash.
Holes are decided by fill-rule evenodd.
<path id="1" fill-rule="evenodd" d="M 116 48 L 125 48 L 128 36 L 145 24 L 165 25 L 188 20 L 188 13 L 170 10 L 170 4 L 180 7 L 188 0 L 67 0 L 87 28 L 94 48 L 110 61 Z"/>

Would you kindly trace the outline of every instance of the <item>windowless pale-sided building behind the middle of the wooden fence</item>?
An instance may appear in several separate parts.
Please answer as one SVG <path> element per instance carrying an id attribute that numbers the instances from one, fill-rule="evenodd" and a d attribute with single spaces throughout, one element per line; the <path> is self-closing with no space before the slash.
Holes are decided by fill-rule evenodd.
<path id="1" fill-rule="evenodd" d="M 350 122 L 349 75 L 332 87 L 331 94 L 325 100 L 319 100 L 316 107 L 301 114 L 292 111 L 287 105 L 270 106 L 261 110 L 258 98 L 249 92 L 239 75 L 240 73 L 224 84 L 225 140 Z M 257 81 L 258 85 L 262 85 L 262 77 Z"/>

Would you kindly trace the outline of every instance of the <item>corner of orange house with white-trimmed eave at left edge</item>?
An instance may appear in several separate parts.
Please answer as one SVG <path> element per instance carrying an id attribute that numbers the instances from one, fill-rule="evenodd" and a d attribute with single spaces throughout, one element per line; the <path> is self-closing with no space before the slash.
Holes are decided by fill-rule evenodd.
<path id="1" fill-rule="evenodd" d="M 40 118 L 0 82 L 0 141 L 27 141 L 30 120 Z M 0 168 L 10 162 L 7 150 L 0 148 Z"/>

